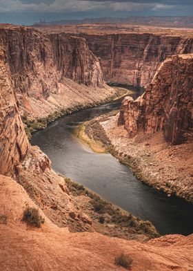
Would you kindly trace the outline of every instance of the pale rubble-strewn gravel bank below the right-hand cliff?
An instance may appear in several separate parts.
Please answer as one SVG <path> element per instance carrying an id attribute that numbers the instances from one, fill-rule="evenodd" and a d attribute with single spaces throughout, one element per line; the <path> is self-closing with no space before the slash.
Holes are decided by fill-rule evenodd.
<path id="1" fill-rule="evenodd" d="M 91 147 L 97 144 L 110 151 L 142 182 L 167 196 L 174 194 L 193 202 L 193 144 L 172 146 L 165 142 L 163 133 L 131 139 L 123 126 L 117 127 L 117 120 L 116 111 L 85 122 L 81 139 L 86 137 Z"/>

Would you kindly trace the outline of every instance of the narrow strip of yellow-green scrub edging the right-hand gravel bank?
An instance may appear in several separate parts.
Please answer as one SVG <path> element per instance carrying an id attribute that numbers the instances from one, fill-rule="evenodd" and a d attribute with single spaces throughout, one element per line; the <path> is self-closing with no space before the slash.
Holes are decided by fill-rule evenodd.
<path id="1" fill-rule="evenodd" d="M 112 115 L 116 115 L 116 113 L 117 111 L 114 111 L 114 112 L 112 111 Z M 142 183 L 144 183 L 145 185 L 148 185 L 149 187 L 152 187 L 153 189 L 156 189 L 157 191 L 161 191 L 167 196 L 176 196 L 178 198 L 181 198 L 182 200 L 187 201 L 188 203 L 193 203 L 192 198 L 189 198 L 188 196 L 185 196 L 185 194 L 180 193 L 179 191 L 176 191 L 175 189 L 172 189 L 174 187 L 167 187 L 167 182 L 165 183 L 165 185 L 163 185 L 163 183 L 154 183 L 154 179 L 151 178 L 151 176 L 147 176 L 143 172 L 141 167 L 139 167 L 139 164 L 140 164 L 139 158 L 136 159 L 132 156 L 129 156 L 127 153 L 116 151 L 110 138 L 108 138 L 108 135 L 105 133 L 105 130 L 100 124 L 100 122 L 108 120 L 109 117 L 110 115 L 109 113 L 107 113 L 100 116 L 100 118 L 103 118 L 103 120 L 99 120 L 98 119 L 99 117 L 96 117 L 82 124 L 78 133 L 79 139 L 83 140 L 86 144 L 88 144 L 88 146 L 93 151 L 94 151 L 94 148 L 93 148 L 94 145 L 101 146 L 101 148 L 103 148 L 104 150 L 103 153 L 110 153 L 112 156 L 118 159 L 119 162 L 121 162 L 121 164 L 130 167 L 134 176 L 136 176 L 136 178 Z M 90 127 L 90 122 L 94 122 L 94 121 L 98 124 L 98 129 L 100 127 L 100 133 L 97 129 L 93 129 Z M 89 127 L 92 130 L 92 138 L 90 138 L 90 136 L 86 132 L 86 127 Z M 94 133 L 97 133 L 97 138 L 99 138 L 99 140 L 94 140 Z M 85 138 L 87 138 L 86 141 L 84 140 Z"/>

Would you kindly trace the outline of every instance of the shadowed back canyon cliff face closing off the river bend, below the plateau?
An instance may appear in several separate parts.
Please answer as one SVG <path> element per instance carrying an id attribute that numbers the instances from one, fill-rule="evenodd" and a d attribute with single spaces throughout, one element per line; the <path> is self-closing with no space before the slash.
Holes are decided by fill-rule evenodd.
<path id="1" fill-rule="evenodd" d="M 166 34 L 79 34 L 101 59 L 107 82 L 147 86 L 161 62 L 170 55 L 193 53 L 193 39 Z"/>

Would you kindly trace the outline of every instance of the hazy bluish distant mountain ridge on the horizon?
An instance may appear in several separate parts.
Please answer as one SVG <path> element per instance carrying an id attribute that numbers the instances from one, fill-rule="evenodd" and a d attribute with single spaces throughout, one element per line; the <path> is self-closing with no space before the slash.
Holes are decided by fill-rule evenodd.
<path id="1" fill-rule="evenodd" d="M 33 26 L 53 26 L 59 24 L 97 24 L 97 23 L 111 23 L 111 24 L 142 24 L 146 26 L 165 26 L 165 27 L 185 27 L 193 28 L 193 16 L 190 17 L 170 17 L 170 16 L 155 16 L 155 17 L 104 17 L 93 19 L 80 20 L 61 20 L 61 21 L 40 21 L 34 23 Z"/>

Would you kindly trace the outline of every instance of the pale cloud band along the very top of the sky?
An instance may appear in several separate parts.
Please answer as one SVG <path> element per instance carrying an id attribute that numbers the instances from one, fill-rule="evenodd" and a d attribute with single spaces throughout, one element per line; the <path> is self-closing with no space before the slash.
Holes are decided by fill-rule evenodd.
<path id="1" fill-rule="evenodd" d="M 192 0 L 0 0 L 0 12 L 88 12 L 179 9 Z"/>

